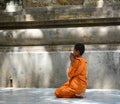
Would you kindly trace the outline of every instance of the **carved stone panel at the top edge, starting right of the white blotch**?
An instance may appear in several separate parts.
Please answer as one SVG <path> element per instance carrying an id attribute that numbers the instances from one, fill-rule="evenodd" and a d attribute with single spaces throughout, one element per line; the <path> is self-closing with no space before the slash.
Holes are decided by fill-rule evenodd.
<path id="1" fill-rule="evenodd" d="M 59 5 L 83 5 L 87 7 L 102 7 L 105 5 L 113 5 L 119 3 L 119 0 L 23 0 L 23 6 L 27 8 Z"/>

